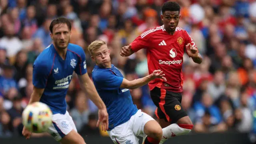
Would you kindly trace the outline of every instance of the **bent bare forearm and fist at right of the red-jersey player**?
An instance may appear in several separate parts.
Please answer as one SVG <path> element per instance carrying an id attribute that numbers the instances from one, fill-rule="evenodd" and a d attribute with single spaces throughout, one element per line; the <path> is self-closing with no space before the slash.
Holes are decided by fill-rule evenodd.
<path id="1" fill-rule="evenodd" d="M 198 49 L 193 47 L 190 43 L 186 45 L 186 51 L 189 57 L 192 58 L 192 60 L 197 63 L 201 64 L 203 61 L 203 58 L 201 54 L 198 52 Z"/>

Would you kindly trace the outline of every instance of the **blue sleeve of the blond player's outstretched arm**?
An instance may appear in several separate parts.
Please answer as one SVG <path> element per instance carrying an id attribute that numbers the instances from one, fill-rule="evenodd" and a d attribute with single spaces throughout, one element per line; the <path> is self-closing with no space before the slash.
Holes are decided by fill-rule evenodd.
<path id="1" fill-rule="evenodd" d="M 93 82 L 102 90 L 116 90 L 120 88 L 123 78 L 116 76 L 110 70 L 104 70 L 94 76 Z"/>

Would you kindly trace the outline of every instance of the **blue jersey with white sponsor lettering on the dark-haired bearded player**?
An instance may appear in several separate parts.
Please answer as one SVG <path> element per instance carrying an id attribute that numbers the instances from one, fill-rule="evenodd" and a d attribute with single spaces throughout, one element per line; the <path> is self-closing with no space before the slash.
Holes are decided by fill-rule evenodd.
<path id="1" fill-rule="evenodd" d="M 66 59 L 63 60 L 51 44 L 39 54 L 33 65 L 33 85 L 44 88 L 40 102 L 47 104 L 53 114 L 66 113 L 66 94 L 73 72 L 86 74 L 84 50 L 69 44 Z"/>

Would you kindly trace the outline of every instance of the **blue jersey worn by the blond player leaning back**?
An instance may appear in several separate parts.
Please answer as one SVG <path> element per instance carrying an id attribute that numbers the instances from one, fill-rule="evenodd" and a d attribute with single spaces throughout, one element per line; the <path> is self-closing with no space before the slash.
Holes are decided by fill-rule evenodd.
<path id="1" fill-rule="evenodd" d="M 127 122 L 138 111 L 132 102 L 130 90 L 120 88 L 123 78 L 113 64 L 111 68 L 94 66 L 92 71 L 94 85 L 107 107 L 109 130 Z"/>

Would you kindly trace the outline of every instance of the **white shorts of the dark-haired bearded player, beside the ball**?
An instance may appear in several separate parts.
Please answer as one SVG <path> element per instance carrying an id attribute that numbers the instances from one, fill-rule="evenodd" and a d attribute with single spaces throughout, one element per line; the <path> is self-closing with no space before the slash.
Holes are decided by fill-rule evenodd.
<path id="1" fill-rule="evenodd" d="M 72 117 L 68 111 L 65 114 L 54 114 L 52 115 L 52 126 L 48 128 L 48 133 L 57 141 L 60 141 L 64 136 L 76 130 L 76 126 L 73 122 Z"/>

